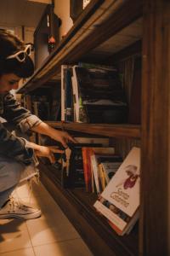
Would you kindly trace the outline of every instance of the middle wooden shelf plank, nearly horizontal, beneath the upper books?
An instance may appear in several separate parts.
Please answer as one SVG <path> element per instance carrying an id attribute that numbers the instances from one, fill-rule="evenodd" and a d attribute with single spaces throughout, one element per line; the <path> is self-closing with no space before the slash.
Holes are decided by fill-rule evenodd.
<path id="1" fill-rule="evenodd" d="M 133 137 L 140 138 L 140 125 L 107 125 L 107 124 L 81 124 L 46 121 L 54 128 L 81 131 L 89 134 L 107 137 Z"/>

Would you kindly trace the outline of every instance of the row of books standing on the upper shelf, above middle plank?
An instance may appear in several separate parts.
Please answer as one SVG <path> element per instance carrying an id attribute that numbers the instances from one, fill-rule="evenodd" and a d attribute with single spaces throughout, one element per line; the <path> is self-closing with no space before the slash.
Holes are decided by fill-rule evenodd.
<path id="1" fill-rule="evenodd" d="M 62 65 L 61 120 L 126 122 L 127 101 L 116 68 Z"/>

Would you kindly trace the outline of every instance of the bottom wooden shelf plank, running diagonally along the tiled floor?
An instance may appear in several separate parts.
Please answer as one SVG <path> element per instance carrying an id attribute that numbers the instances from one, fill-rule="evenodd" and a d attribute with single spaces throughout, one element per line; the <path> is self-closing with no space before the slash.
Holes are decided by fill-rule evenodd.
<path id="1" fill-rule="evenodd" d="M 138 224 L 127 236 L 118 236 L 105 218 L 94 209 L 97 196 L 84 189 L 63 189 L 50 166 L 40 163 L 41 181 L 94 255 L 135 256 L 138 252 Z M 90 234 L 90 236 L 88 236 Z M 93 240 L 92 240 L 93 237 Z M 95 243 L 94 243 L 95 241 Z"/>

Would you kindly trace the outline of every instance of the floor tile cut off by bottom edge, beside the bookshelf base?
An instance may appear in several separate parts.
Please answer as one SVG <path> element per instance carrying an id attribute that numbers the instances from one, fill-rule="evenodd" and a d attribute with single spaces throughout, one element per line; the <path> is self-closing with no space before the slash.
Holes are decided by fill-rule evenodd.
<path id="1" fill-rule="evenodd" d="M 82 239 L 55 242 L 34 247 L 36 256 L 93 256 Z"/>

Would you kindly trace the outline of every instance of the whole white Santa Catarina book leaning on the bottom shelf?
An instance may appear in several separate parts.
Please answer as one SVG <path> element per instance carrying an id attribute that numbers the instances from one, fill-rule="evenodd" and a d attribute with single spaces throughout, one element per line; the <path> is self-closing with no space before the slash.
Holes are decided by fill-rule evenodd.
<path id="1" fill-rule="evenodd" d="M 94 207 L 120 236 L 139 218 L 140 148 L 133 147 Z"/>

